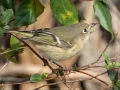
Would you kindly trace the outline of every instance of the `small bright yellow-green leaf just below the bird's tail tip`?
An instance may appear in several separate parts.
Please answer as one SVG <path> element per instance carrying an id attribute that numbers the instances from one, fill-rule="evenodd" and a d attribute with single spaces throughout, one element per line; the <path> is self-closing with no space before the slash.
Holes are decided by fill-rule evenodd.
<path id="1" fill-rule="evenodd" d="M 20 41 L 14 36 L 10 37 L 10 47 L 11 48 L 19 48 L 20 47 Z"/>

